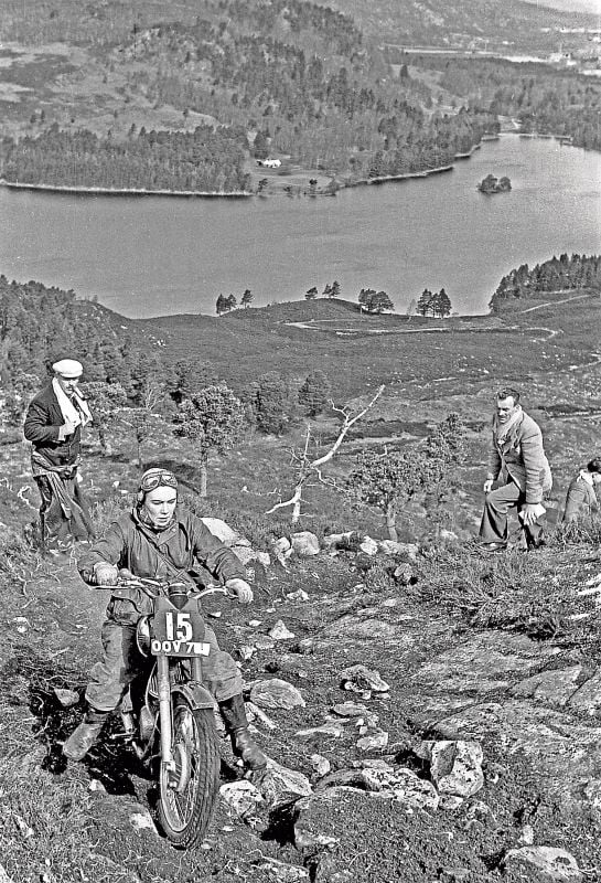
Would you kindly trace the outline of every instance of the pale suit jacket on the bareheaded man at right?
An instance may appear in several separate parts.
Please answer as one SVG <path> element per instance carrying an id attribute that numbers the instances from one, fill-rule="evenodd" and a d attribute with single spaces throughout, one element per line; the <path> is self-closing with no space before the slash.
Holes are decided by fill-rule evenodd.
<path id="1" fill-rule="evenodd" d="M 551 469 L 543 448 L 543 433 L 524 411 L 502 443 L 496 438 L 493 424 L 489 478 L 505 483 L 513 481 L 525 492 L 527 503 L 539 503 L 544 493 L 551 489 Z"/>

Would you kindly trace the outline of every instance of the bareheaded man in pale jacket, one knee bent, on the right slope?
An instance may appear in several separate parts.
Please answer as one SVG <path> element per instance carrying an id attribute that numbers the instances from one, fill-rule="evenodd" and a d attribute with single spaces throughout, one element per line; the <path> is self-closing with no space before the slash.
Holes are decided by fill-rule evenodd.
<path id="1" fill-rule="evenodd" d="M 493 490 L 493 485 L 497 487 Z M 489 474 L 484 482 L 484 512 L 480 525 L 482 549 L 498 552 L 507 546 L 507 513 L 516 507 L 528 549 L 543 543 L 543 496 L 551 489 L 551 470 L 538 424 L 519 404 L 519 393 L 501 390 L 496 395 Z"/>

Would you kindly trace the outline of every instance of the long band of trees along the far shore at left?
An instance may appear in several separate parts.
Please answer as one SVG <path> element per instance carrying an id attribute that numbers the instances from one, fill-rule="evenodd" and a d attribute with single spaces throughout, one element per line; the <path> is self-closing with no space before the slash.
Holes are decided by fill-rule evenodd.
<path id="1" fill-rule="evenodd" d="M 11 183 L 110 190 L 240 192 L 249 188 L 246 136 L 197 126 L 193 132 L 130 130 L 126 142 L 52 125 L 35 138 L 0 141 L 0 177 Z"/>

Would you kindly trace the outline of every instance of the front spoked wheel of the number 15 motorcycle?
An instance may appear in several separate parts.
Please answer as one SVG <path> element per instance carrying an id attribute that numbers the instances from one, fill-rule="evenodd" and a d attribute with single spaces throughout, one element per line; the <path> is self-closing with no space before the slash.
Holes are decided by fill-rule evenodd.
<path id="1" fill-rule="evenodd" d="M 203 838 L 217 799 L 219 749 L 211 709 L 174 700 L 172 752 L 174 770 L 161 764 L 159 817 L 169 840 L 186 849 Z"/>

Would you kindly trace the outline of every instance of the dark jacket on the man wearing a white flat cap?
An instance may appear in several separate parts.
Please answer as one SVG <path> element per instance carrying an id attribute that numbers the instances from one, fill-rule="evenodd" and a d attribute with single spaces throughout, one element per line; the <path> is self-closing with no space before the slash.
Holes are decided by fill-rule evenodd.
<path id="1" fill-rule="evenodd" d="M 73 435 L 58 440 L 58 429 L 64 424 L 63 413 L 52 383 L 35 395 L 28 407 L 23 432 L 34 450 L 40 451 L 53 466 L 72 466 L 79 456 L 82 427 Z"/>

